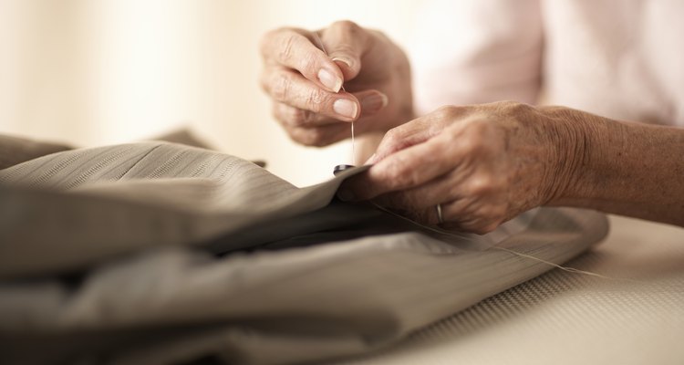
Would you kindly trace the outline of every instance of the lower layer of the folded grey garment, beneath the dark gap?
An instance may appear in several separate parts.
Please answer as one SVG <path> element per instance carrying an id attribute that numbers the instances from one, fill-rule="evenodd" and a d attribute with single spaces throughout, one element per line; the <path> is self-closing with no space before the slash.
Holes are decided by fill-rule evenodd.
<path id="1" fill-rule="evenodd" d="M 543 258 L 576 255 L 600 238 L 601 232 L 586 225 L 600 215 L 573 212 L 537 213 L 554 216 L 557 229 L 569 229 L 564 240 L 545 241 L 538 230 L 547 231 L 550 218 L 543 219 L 544 227 L 533 218 L 527 230 L 509 237 L 508 245 L 543 251 Z M 124 363 L 178 361 L 182 357 L 175 349 L 185 349 L 184 356 L 219 355 L 226 363 L 323 360 L 388 345 L 549 268 L 507 252 L 472 251 L 417 233 L 225 259 L 164 250 L 93 269 L 76 290 L 55 281 L 0 286 L 0 339 L 3 330 L 18 328 L 77 334 L 88 328 L 129 328 L 145 334 L 156 326 L 194 323 L 206 328 L 175 338 L 160 334 L 151 343 L 105 353 Z M 2 300 L 8 297 L 19 299 Z M 488 316 L 477 312 L 473 326 L 486 324 Z M 88 338 L 104 341 L 99 346 L 105 347 L 109 339 L 106 330 Z M 73 349 L 81 341 L 77 337 L 58 349 Z"/>

